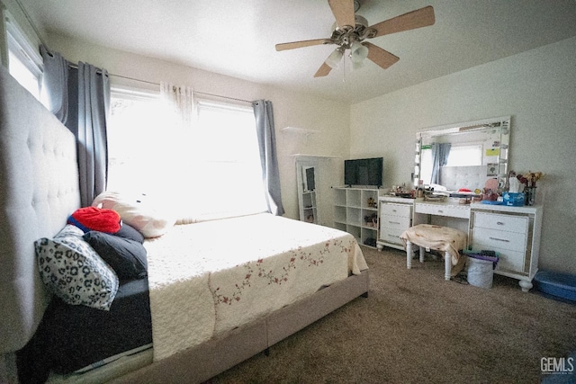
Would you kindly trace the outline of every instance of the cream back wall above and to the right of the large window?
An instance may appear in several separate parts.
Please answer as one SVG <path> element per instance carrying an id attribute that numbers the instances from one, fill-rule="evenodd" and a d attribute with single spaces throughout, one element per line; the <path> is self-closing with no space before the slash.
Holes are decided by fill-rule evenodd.
<path id="1" fill-rule="evenodd" d="M 84 61 L 96 67 L 104 67 L 113 75 L 128 76 L 152 83 L 172 82 L 175 85 L 190 85 L 194 91 L 218 94 L 243 100 L 266 99 L 272 101 L 275 113 L 276 145 L 278 149 L 284 216 L 298 218 L 298 198 L 296 194 L 296 170 L 294 154 L 348 156 L 347 104 L 329 101 L 307 94 L 295 94 L 274 86 L 260 85 L 229 76 L 186 67 L 155 58 L 147 58 L 130 52 L 95 46 L 85 41 L 61 35 L 49 35 L 49 47 L 60 52 L 72 62 Z M 154 88 L 156 85 L 135 82 L 111 76 L 113 85 Z M 319 133 L 302 135 L 285 132 L 284 127 L 315 129 Z M 334 167 L 327 167 L 323 180 L 334 184 L 342 183 L 338 157 Z M 335 169 L 336 167 L 336 169 Z M 230 198 L 235 188 L 230 187 Z M 331 193 L 320 198 L 322 223 L 332 225 L 333 209 Z"/>

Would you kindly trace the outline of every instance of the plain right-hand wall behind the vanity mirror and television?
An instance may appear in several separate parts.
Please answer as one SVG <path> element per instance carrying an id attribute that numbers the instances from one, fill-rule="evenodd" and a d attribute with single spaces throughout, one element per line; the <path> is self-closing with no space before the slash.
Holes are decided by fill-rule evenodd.
<path id="1" fill-rule="evenodd" d="M 512 116 L 511 169 L 541 171 L 539 268 L 576 273 L 576 38 L 356 103 L 350 155 L 382 155 L 384 184 L 410 183 L 416 132 Z"/>

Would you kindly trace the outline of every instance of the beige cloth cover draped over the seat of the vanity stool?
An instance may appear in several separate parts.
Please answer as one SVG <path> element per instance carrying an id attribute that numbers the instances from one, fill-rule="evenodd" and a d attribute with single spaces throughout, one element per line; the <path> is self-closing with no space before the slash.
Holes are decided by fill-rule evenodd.
<path id="1" fill-rule="evenodd" d="M 406 241 L 410 241 L 417 246 L 447 252 L 450 255 L 452 265 L 458 263 L 460 259 L 458 251 L 465 249 L 468 243 L 468 235 L 463 231 L 430 224 L 410 227 L 401 234 L 400 238 L 404 242 L 404 246 L 406 246 Z"/>

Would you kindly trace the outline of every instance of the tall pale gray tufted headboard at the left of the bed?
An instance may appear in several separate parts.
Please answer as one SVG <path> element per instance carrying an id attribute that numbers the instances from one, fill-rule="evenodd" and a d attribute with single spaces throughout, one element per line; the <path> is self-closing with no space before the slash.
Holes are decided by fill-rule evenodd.
<path id="1" fill-rule="evenodd" d="M 48 304 L 34 241 L 80 206 L 76 139 L 0 65 L 0 355 L 31 338 Z"/>

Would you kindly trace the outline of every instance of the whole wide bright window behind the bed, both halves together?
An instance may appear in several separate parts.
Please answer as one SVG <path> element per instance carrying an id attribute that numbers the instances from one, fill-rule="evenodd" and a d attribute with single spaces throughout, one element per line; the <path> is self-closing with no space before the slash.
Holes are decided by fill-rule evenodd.
<path id="1" fill-rule="evenodd" d="M 108 189 L 169 196 L 179 217 L 266 210 L 252 108 L 198 102 L 192 128 L 159 95 L 112 89 Z"/>

